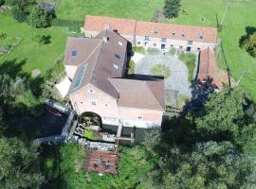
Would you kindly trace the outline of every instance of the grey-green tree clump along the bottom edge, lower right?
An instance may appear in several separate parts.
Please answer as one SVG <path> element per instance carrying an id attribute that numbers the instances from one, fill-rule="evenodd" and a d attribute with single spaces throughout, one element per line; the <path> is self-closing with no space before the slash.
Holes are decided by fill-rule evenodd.
<path id="1" fill-rule="evenodd" d="M 253 159 L 229 142 L 210 141 L 194 145 L 185 154 L 169 149 L 141 185 L 164 189 L 255 188 L 255 176 Z"/>

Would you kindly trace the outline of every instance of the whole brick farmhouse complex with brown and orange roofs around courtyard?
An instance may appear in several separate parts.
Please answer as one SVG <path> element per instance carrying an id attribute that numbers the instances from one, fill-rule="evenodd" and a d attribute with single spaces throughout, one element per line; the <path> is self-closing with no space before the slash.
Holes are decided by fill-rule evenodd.
<path id="1" fill-rule="evenodd" d="M 72 82 L 68 96 L 79 115 L 96 113 L 102 124 L 142 129 L 161 126 L 164 80 L 127 78 L 132 45 L 162 52 L 171 47 L 196 52 L 209 49 L 201 59 L 198 78 L 212 74 L 212 70 L 202 73 L 215 63 L 216 28 L 87 15 L 83 30 L 85 38 L 68 38 L 66 43 L 64 64 Z"/>

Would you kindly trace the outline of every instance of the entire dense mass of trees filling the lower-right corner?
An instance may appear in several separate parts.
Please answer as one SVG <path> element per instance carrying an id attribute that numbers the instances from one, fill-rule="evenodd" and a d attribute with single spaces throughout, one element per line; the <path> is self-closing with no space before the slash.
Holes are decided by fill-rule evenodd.
<path id="1" fill-rule="evenodd" d="M 251 106 L 241 89 L 226 87 L 203 107 L 171 120 L 175 127 L 162 134 L 153 129 L 150 136 L 160 134 L 161 140 L 152 137 L 145 145 L 154 151 L 157 165 L 140 188 L 256 187 L 255 158 L 244 148 L 255 141 L 251 133 L 256 120 L 249 117 L 256 111 Z"/>

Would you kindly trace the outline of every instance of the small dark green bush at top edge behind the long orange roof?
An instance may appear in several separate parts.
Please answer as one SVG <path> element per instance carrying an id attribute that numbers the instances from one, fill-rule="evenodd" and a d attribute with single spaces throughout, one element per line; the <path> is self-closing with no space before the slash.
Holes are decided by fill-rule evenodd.
<path id="1" fill-rule="evenodd" d="M 165 0 L 165 5 L 163 10 L 166 18 L 178 17 L 179 9 L 180 9 L 180 0 Z"/>

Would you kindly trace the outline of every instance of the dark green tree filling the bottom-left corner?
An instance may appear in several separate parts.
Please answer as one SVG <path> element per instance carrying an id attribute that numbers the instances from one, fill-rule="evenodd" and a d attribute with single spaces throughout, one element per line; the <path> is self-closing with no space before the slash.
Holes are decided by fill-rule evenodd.
<path id="1" fill-rule="evenodd" d="M 37 146 L 17 138 L 0 138 L 0 188 L 40 188 L 44 177 L 37 163 Z"/>

